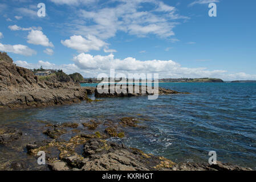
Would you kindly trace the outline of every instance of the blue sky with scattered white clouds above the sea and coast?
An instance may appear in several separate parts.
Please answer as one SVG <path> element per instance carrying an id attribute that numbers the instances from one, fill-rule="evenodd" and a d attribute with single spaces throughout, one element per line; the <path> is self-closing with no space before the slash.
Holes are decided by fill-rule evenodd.
<path id="1" fill-rule="evenodd" d="M 208 15 L 210 2 L 217 17 Z M 22 67 L 84 77 L 114 68 L 256 80 L 255 8 L 253 0 L 2 0 L 0 51 Z"/>

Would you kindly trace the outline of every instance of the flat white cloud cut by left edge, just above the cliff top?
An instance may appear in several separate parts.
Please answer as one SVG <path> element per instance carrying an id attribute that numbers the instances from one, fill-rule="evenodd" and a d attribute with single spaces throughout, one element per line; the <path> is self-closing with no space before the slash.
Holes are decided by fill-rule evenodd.
<path id="1" fill-rule="evenodd" d="M 12 46 L 12 45 L 5 45 L 0 43 L 0 51 L 12 52 L 12 53 L 16 53 L 24 56 L 36 55 L 35 50 L 21 44 Z"/>

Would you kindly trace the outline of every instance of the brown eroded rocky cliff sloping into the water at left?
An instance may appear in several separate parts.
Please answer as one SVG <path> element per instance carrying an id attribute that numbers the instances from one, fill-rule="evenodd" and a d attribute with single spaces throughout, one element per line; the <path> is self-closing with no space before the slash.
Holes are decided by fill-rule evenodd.
<path id="1" fill-rule="evenodd" d="M 86 99 L 86 88 L 73 81 L 39 80 L 29 69 L 0 60 L 0 108 L 72 104 Z"/>

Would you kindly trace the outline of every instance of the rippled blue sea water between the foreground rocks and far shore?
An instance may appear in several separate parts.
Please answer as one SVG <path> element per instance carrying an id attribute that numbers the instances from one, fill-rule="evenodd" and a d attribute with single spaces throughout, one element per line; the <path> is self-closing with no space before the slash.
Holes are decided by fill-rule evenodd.
<path id="1" fill-rule="evenodd" d="M 125 129 L 125 138 L 111 140 L 174 162 L 208 162 L 208 152 L 216 151 L 217 160 L 256 169 L 256 83 L 159 86 L 191 94 L 164 95 L 157 100 L 147 96 L 104 98 L 90 104 L 0 111 L 0 125 L 27 126 L 27 133 L 34 132 L 31 135 L 36 138 L 33 127 L 39 124 L 31 124 L 34 121 L 82 123 L 109 118 L 117 122 L 122 117 L 137 117 L 143 128 Z"/>

